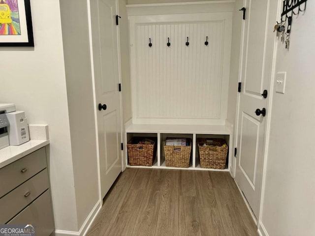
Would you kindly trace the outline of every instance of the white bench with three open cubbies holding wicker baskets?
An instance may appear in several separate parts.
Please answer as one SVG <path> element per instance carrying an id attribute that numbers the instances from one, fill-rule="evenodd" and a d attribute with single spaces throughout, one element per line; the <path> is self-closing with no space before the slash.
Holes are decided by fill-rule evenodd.
<path id="1" fill-rule="evenodd" d="M 132 137 L 156 137 L 157 142 L 157 157 L 154 165 L 151 167 L 145 166 L 129 166 L 127 148 L 125 150 L 125 157 L 127 167 L 130 168 L 157 168 L 157 169 L 183 169 L 183 170 L 215 170 L 215 171 L 228 171 L 231 166 L 232 158 L 232 128 L 227 125 L 182 125 L 182 124 L 130 124 L 125 127 L 125 143 Z M 190 161 L 189 168 L 166 167 L 165 158 L 163 153 L 163 141 L 166 137 L 189 137 L 192 140 L 192 160 Z M 224 138 L 229 147 L 228 151 L 228 167 L 224 170 L 200 168 L 198 153 L 196 147 L 196 140 L 199 137 L 211 138 Z"/>

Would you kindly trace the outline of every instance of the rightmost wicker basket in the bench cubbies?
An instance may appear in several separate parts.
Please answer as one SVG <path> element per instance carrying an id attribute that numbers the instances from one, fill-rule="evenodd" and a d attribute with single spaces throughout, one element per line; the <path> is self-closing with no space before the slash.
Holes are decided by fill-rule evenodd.
<path id="1" fill-rule="evenodd" d="M 224 139 L 197 139 L 201 168 L 224 169 L 227 145 Z M 207 144 L 207 146 L 203 146 Z M 209 145 L 209 146 L 208 146 Z M 210 146 L 211 145 L 211 146 Z"/>

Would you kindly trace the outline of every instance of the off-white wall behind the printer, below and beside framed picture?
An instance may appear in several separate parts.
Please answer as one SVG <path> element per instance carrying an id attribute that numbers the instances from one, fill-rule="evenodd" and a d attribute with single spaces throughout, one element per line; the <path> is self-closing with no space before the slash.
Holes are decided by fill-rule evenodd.
<path id="1" fill-rule="evenodd" d="M 76 231 L 59 1 L 32 0 L 34 48 L 1 48 L 0 101 L 15 103 L 32 124 L 48 124 L 50 179 L 57 229 Z M 5 88 L 5 89 L 4 89 Z"/>

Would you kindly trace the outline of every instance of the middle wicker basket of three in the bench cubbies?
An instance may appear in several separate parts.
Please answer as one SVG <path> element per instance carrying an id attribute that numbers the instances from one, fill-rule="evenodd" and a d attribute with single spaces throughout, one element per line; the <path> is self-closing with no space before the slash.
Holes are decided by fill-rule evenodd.
<path id="1" fill-rule="evenodd" d="M 189 146 L 166 146 L 164 143 L 165 165 L 167 167 L 189 167 L 191 140 Z"/>

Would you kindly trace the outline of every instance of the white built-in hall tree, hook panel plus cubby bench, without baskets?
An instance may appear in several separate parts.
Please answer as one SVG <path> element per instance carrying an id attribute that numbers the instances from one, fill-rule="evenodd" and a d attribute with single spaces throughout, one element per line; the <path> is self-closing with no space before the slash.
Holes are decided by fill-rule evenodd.
<path id="1" fill-rule="evenodd" d="M 132 117 L 125 144 L 156 137 L 150 168 L 174 169 L 165 165 L 163 142 L 183 137 L 192 140 L 189 169 L 209 170 L 200 168 L 196 147 L 205 137 L 225 140 L 225 171 L 231 170 L 233 127 L 226 119 L 233 7 L 218 1 L 127 6 Z"/>

